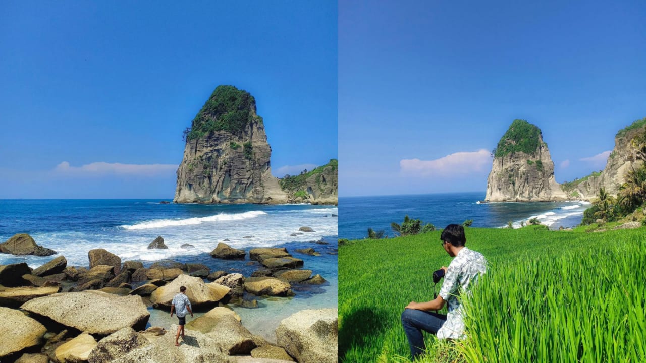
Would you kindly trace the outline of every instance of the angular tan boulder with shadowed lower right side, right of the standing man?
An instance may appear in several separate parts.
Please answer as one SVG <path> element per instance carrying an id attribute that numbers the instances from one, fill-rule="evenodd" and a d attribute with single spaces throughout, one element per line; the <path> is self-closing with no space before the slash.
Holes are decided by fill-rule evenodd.
<path id="1" fill-rule="evenodd" d="M 220 347 L 227 355 L 247 355 L 256 347 L 253 334 L 233 315 L 222 316 L 213 330 L 206 335 L 216 340 L 216 347 Z"/>

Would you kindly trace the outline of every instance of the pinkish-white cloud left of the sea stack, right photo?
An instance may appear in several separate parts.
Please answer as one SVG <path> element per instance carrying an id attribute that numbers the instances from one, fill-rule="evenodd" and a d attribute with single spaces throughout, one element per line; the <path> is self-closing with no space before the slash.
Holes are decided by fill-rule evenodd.
<path id="1" fill-rule="evenodd" d="M 491 152 L 480 149 L 455 152 L 435 160 L 404 159 L 399 161 L 399 168 L 407 174 L 453 176 L 487 171 L 491 164 Z"/>

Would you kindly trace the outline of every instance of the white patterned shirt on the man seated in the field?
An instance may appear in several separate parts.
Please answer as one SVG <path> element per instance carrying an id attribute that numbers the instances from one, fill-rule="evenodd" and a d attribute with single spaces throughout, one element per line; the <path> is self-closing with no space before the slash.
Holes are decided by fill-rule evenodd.
<path id="1" fill-rule="evenodd" d="M 438 339 L 464 339 L 464 321 L 459 296 L 468 293 L 471 282 L 486 272 L 486 260 L 479 252 L 463 247 L 448 265 L 439 296 L 448 303 L 446 322 L 437 331 Z"/>

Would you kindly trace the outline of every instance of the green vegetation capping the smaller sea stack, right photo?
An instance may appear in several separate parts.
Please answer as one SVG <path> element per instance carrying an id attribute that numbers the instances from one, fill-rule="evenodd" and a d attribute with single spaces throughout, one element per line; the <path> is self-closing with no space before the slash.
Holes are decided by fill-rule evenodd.
<path id="1" fill-rule="evenodd" d="M 532 125 L 524 119 L 515 119 L 507 132 L 498 141 L 498 145 L 494 149 L 494 156 L 502 158 L 507 154 L 516 152 L 533 155 L 540 145 L 540 136 L 541 130 L 536 125 Z"/>

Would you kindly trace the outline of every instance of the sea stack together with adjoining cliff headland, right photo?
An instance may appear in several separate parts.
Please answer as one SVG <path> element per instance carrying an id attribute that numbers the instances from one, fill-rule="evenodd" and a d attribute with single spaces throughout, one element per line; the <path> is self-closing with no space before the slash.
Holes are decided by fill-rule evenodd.
<path id="1" fill-rule="evenodd" d="M 603 188 L 617 196 L 627 172 L 640 169 L 640 142 L 646 119 L 638 119 L 615 135 L 614 149 L 603 171 L 563 184 L 554 177 L 554 162 L 541 130 L 525 120 L 516 119 L 498 141 L 487 178 L 483 202 L 590 201 Z"/>

